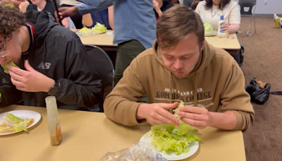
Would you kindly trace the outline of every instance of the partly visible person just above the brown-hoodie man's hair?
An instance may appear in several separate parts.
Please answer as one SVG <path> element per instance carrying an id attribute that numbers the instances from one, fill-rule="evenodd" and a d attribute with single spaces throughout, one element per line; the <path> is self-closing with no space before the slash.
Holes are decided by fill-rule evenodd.
<path id="1" fill-rule="evenodd" d="M 164 11 L 174 6 L 174 4 L 169 0 L 153 0 L 153 4 L 156 20 L 159 20 L 159 17 L 163 15 Z"/>

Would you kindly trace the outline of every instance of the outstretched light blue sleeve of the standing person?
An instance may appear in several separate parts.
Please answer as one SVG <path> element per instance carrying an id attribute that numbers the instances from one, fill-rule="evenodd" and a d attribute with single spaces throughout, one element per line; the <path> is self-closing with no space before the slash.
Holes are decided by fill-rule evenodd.
<path id="1" fill-rule="evenodd" d="M 100 11 L 102 9 L 108 8 L 109 6 L 113 5 L 113 2 L 116 0 L 80 0 L 82 4 L 76 5 L 78 8 L 78 12 L 81 15 L 86 13 Z"/>

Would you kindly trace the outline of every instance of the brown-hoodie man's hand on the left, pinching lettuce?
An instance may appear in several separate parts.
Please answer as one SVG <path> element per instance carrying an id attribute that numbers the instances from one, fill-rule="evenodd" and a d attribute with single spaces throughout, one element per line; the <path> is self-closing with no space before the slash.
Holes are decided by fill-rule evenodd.
<path id="1" fill-rule="evenodd" d="M 168 124 L 179 126 L 178 119 L 166 110 L 175 108 L 177 105 L 178 102 L 174 102 L 173 104 L 140 104 L 137 109 L 137 119 L 147 119 L 152 125 Z"/>

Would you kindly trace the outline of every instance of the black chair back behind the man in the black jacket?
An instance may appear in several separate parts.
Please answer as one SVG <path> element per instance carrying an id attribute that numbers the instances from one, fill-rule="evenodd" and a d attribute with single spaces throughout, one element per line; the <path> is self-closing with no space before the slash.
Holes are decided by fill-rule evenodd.
<path id="1" fill-rule="evenodd" d="M 106 54 L 103 49 L 91 44 L 85 44 L 85 49 L 87 50 L 92 65 L 102 79 L 103 101 L 99 102 L 99 107 L 100 112 L 104 112 L 103 103 L 106 95 L 109 95 L 111 90 L 114 89 L 114 65 L 108 54 Z"/>

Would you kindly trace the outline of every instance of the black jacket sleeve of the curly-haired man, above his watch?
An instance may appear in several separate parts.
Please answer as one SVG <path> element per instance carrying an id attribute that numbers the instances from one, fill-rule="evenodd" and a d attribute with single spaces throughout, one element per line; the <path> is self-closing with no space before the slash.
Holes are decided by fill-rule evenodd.
<path id="1" fill-rule="evenodd" d="M 79 37 L 68 42 L 66 52 L 66 73 L 58 80 L 57 100 L 75 107 L 94 107 L 102 99 L 102 81 Z"/>

